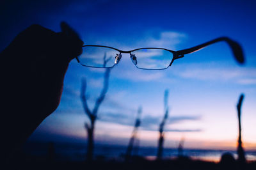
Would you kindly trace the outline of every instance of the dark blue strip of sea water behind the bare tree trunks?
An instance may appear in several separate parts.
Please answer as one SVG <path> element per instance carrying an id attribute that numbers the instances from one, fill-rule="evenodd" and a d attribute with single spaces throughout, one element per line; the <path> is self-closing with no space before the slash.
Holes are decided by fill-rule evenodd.
<path id="1" fill-rule="evenodd" d="M 81 143 L 54 143 L 54 157 L 56 160 L 83 161 L 86 157 L 86 144 Z M 115 159 L 123 160 L 126 152 L 126 146 L 95 144 L 94 157 L 96 159 Z M 49 155 L 48 143 L 27 143 L 24 146 L 24 152 L 31 157 L 47 157 Z M 219 162 L 223 153 L 231 153 L 234 158 L 237 158 L 235 150 L 202 150 L 193 148 L 184 148 L 182 155 L 194 160 L 205 160 Z M 246 160 L 256 161 L 256 150 L 245 151 Z M 136 147 L 132 150 L 132 155 L 138 155 L 150 160 L 156 159 L 156 147 Z M 177 148 L 164 148 L 163 158 L 173 159 L 178 157 Z"/>

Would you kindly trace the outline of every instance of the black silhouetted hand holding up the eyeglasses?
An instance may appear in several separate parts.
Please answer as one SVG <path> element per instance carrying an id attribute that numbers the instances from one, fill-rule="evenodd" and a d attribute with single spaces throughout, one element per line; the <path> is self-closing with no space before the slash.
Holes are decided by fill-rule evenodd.
<path id="1" fill-rule="evenodd" d="M 81 54 L 82 45 L 77 33 L 62 22 L 61 33 L 30 26 L 0 53 L 5 109 L 1 129 L 7 145 L 26 141 L 58 107 L 68 63 Z"/>

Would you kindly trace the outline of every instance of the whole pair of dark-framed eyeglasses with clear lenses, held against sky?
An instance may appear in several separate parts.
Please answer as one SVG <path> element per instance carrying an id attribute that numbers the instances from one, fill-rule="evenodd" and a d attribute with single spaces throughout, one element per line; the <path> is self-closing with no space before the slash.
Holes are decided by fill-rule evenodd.
<path id="1" fill-rule="evenodd" d="M 146 70 L 162 70 L 171 66 L 175 59 L 183 58 L 185 54 L 196 52 L 197 50 L 203 49 L 212 43 L 221 41 L 228 43 L 238 63 L 244 63 L 243 50 L 241 46 L 239 43 L 228 37 L 216 38 L 209 42 L 196 45 L 195 47 L 178 51 L 154 47 L 125 51 L 104 45 L 84 45 L 83 53 L 76 59 L 78 63 L 81 63 L 83 66 L 111 68 L 118 64 L 122 58 L 122 54 L 128 53 L 130 54 L 132 63 L 134 63 L 137 68 Z"/>

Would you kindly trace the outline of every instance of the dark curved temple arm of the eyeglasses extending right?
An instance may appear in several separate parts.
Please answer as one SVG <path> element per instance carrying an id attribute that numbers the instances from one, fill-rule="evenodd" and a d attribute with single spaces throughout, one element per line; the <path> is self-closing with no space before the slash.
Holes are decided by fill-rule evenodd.
<path id="1" fill-rule="evenodd" d="M 184 57 L 184 54 L 190 54 L 192 52 L 196 52 L 197 50 L 203 49 L 204 47 L 207 47 L 208 45 L 211 45 L 212 43 L 221 42 L 221 41 L 225 41 L 228 43 L 228 45 L 232 49 L 232 52 L 234 54 L 236 61 L 240 64 L 243 64 L 244 63 L 244 54 L 243 54 L 243 49 L 242 49 L 241 45 L 239 45 L 239 43 L 237 43 L 234 40 L 231 40 L 230 38 L 225 37 L 225 36 L 216 38 L 209 42 L 202 43 L 200 45 L 196 45 L 195 47 L 191 47 L 189 49 L 178 50 L 174 53 L 175 59 L 182 58 L 182 57 Z"/>

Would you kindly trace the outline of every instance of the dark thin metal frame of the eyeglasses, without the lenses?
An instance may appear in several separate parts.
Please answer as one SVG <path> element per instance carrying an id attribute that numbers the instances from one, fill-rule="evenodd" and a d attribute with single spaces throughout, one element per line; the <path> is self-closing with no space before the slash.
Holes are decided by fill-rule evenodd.
<path id="1" fill-rule="evenodd" d="M 130 54 L 130 55 L 132 55 L 131 52 L 134 52 L 136 50 L 141 50 L 141 49 L 167 50 L 167 51 L 169 51 L 169 52 L 171 52 L 173 54 L 173 58 L 172 58 L 172 61 L 170 62 L 170 64 L 166 68 L 156 68 L 156 69 L 140 68 L 140 69 L 143 69 L 143 70 L 164 70 L 164 69 L 167 69 L 168 67 L 170 67 L 172 65 L 173 61 L 175 61 L 175 59 L 183 58 L 185 54 L 191 54 L 191 53 L 196 52 L 196 51 L 198 51 L 200 49 L 204 49 L 204 47 L 207 47 L 208 45 L 211 45 L 211 44 L 217 43 L 217 42 L 222 42 L 222 41 L 228 43 L 229 47 L 232 49 L 232 52 L 234 54 L 234 57 L 235 57 L 236 61 L 239 64 L 243 64 L 244 63 L 244 54 L 243 54 L 243 49 L 242 49 L 241 45 L 239 45 L 239 43 L 237 43 L 236 41 L 231 40 L 227 36 L 222 36 L 220 38 L 216 38 L 214 40 L 202 43 L 200 45 L 196 45 L 195 47 L 191 47 L 189 49 L 183 49 L 183 50 L 177 50 L 177 51 L 170 50 L 170 49 L 164 49 L 164 48 L 157 48 L 157 47 L 143 47 L 143 48 L 133 49 L 133 50 L 119 50 L 119 49 L 116 49 L 114 47 L 108 47 L 108 46 L 105 46 L 105 45 L 83 45 L 82 47 L 104 47 L 104 48 L 109 48 L 109 49 L 117 50 L 120 54 L 123 53 L 123 54 Z M 80 63 L 78 56 L 76 57 L 76 60 L 77 60 L 78 63 Z M 119 62 L 119 60 L 118 60 L 118 62 Z M 113 66 L 117 65 L 118 62 L 114 63 Z M 83 65 L 82 63 L 80 63 L 80 64 Z M 86 65 L 83 65 L 83 66 L 86 66 Z M 109 66 L 109 67 L 106 67 L 106 66 L 104 66 L 104 67 L 88 66 L 88 67 L 93 67 L 93 68 L 113 68 L 113 66 Z M 136 67 L 139 68 L 138 66 L 136 66 Z"/>

